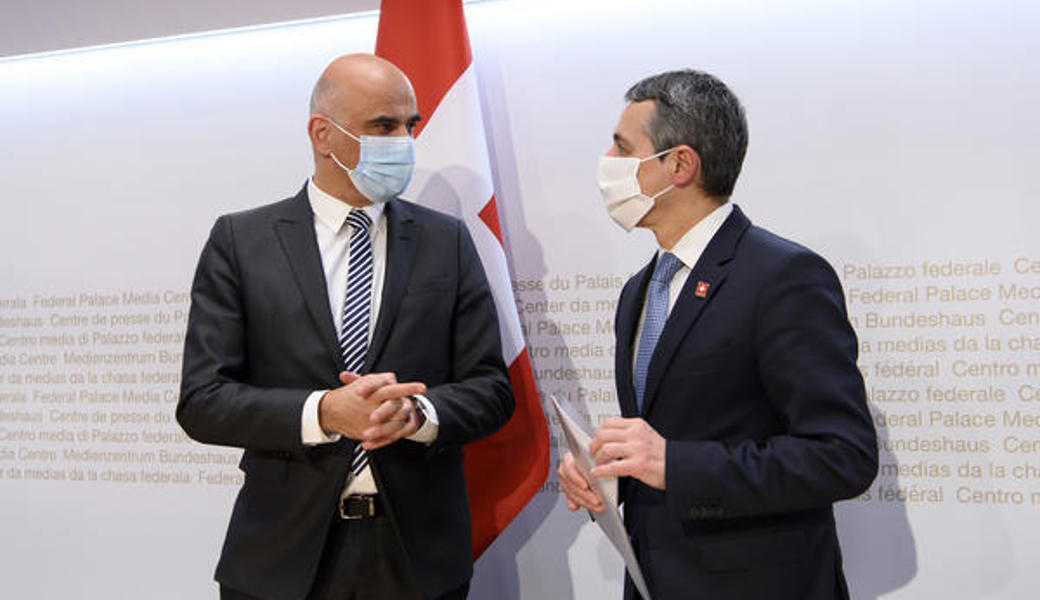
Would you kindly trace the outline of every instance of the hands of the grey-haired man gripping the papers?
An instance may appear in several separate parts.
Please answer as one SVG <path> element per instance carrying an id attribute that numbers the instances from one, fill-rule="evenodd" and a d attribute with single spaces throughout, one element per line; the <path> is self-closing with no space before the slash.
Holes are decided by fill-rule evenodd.
<path id="1" fill-rule="evenodd" d="M 666 446 L 665 438 L 643 419 L 607 419 L 589 444 L 589 453 L 596 461 L 589 474 L 593 477 L 635 477 L 664 490 Z M 587 508 L 595 513 L 604 510 L 603 499 L 578 470 L 570 452 L 560 461 L 556 475 L 569 510 Z"/>

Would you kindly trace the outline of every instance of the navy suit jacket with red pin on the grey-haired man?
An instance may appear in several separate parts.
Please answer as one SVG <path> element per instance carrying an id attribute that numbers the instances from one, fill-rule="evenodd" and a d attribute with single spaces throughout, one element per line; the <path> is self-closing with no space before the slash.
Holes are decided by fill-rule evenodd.
<path id="1" fill-rule="evenodd" d="M 734 207 L 668 317 L 640 415 L 632 342 L 652 271 L 625 285 L 616 320 L 621 412 L 668 440 L 666 492 L 623 481 L 650 593 L 848 598 L 831 503 L 869 486 L 877 438 L 833 269 Z"/>

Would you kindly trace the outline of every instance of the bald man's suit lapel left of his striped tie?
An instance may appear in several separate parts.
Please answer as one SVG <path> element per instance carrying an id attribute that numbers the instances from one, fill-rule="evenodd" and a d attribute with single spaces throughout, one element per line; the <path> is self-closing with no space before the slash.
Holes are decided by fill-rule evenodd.
<path id="1" fill-rule="evenodd" d="M 292 270 L 293 279 L 304 296 L 307 312 L 317 328 L 321 341 L 332 356 L 340 356 L 336 342 L 336 328 L 329 310 L 329 292 L 321 253 L 314 235 L 314 213 L 307 199 L 307 186 L 293 198 L 282 217 L 275 221 L 275 234 L 282 244 L 282 252 Z"/>

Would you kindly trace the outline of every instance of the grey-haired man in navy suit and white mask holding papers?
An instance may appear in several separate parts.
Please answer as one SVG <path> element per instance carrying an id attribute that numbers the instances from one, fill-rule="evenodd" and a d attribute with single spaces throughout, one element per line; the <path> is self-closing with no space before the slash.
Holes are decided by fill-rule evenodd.
<path id="1" fill-rule="evenodd" d="M 728 202 L 748 133 L 721 81 L 665 73 L 626 100 L 599 184 L 660 249 L 621 292 L 622 418 L 596 432 L 591 475 L 623 477 L 655 599 L 848 598 L 832 503 L 878 463 L 838 280 Z M 603 510 L 572 456 L 558 475 L 571 510 Z"/>

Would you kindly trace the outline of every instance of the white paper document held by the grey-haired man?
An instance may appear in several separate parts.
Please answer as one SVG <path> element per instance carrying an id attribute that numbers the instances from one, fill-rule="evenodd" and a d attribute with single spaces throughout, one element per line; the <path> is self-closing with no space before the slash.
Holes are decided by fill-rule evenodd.
<path id="1" fill-rule="evenodd" d="M 596 461 L 589 453 L 589 443 L 592 441 L 581 421 L 569 406 L 564 406 L 556 396 L 552 398 L 552 407 L 560 417 L 560 424 L 567 438 L 567 446 L 574 454 L 574 462 L 577 463 L 578 471 L 590 481 L 592 489 L 603 499 L 605 510 L 596 514 L 596 524 L 606 533 L 606 539 L 614 544 L 614 547 L 621 553 L 625 560 L 625 568 L 628 569 L 628 576 L 632 578 L 632 583 L 643 596 L 644 600 L 650 600 L 650 593 L 647 591 L 646 580 L 643 579 L 643 571 L 635 560 L 635 552 L 628 541 L 628 532 L 625 531 L 625 523 L 621 520 L 621 513 L 618 511 L 618 478 L 617 477 L 596 477 L 589 474 L 589 471 L 596 465 Z"/>

